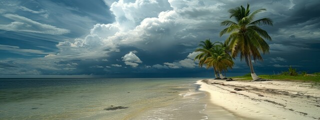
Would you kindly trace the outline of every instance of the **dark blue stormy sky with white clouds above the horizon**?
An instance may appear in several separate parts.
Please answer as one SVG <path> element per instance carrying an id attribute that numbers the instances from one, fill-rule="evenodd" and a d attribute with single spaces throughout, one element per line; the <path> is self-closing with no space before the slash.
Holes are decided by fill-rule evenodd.
<path id="1" fill-rule="evenodd" d="M 213 77 L 193 51 L 248 2 L 273 20 L 257 74 L 320 71 L 319 0 L 0 0 L 0 77 Z"/>

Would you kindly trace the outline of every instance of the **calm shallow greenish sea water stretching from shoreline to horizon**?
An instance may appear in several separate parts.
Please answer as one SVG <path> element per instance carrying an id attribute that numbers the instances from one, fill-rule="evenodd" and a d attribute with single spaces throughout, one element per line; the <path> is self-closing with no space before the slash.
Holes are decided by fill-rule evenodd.
<path id="1" fill-rule="evenodd" d="M 214 113 L 232 114 L 212 104 L 208 110 L 207 93 L 194 84 L 199 79 L 0 79 L 0 119 L 214 119 Z M 127 108 L 105 110 L 112 106 Z"/>

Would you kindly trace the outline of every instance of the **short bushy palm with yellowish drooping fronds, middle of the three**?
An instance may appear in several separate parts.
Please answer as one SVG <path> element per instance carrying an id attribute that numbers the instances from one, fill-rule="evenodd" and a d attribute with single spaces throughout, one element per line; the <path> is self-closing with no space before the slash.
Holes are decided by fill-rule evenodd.
<path id="1" fill-rule="evenodd" d="M 214 66 L 214 68 L 219 72 L 220 78 L 225 78 L 221 71 L 227 70 L 227 68 L 232 68 L 234 62 L 231 58 L 231 56 L 225 52 L 226 47 L 223 46 L 221 42 L 217 42 L 219 44 L 214 45 L 210 49 L 210 56 L 206 58 L 204 63 L 206 63 L 208 66 Z"/>

